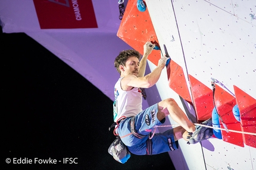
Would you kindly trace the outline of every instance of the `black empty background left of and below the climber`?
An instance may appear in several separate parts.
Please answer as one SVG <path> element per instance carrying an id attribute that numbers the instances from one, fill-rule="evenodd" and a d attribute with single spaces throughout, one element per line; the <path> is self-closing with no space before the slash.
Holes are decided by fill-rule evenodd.
<path id="1" fill-rule="evenodd" d="M 108 131 L 113 101 L 26 34 L 1 30 L 0 40 L 1 169 L 174 169 L 168 153 L 115 161 L 107 151 L 115 139 Z M 7 158 L 61 162 L 8 164 Z"/>

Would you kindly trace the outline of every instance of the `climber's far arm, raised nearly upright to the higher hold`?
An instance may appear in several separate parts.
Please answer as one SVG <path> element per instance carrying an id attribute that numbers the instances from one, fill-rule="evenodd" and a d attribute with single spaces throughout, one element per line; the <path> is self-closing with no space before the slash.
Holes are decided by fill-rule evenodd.
<path id="1" fill-rule="evenodd" d="M 151 54 L 154 49 L 155 44 L 152 44 L 150 41 L 146 42 L 143 46 L 143 56 L 139 64 L 139 75 L 138 77 L 143 77 L 146 70 L 146 60 L 148 59 L 149 54 Z"/>

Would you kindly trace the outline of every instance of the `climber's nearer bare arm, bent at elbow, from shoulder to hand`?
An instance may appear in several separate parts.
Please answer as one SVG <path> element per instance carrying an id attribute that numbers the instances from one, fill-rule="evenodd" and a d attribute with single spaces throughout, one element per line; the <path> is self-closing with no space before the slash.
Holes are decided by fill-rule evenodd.
<path id="1" fill-rule="evenodd" d="M 150 88 L 155 85 L 160 78 L 163 68 L 166 66 L 167 57 L 161 57 L 158 66 L 151 73 L 143 77 L 127 75 L 121 80 L 121 87 L 124 91 L 129 91 L 133 87 Z"/>

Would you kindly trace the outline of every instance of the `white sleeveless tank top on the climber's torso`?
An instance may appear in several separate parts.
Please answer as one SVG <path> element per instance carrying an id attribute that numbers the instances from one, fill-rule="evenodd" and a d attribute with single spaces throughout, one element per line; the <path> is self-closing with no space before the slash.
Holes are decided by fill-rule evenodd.
<path id="1" fill-rule="evenodd" d="M 140 88 L 133 88 L 130 91 L 121 89 L 121 79 L 119 78 L 115 84 L 114 94 L 115 101 L 113 104 L 114 121 L 125 116 L 136 116 L 142 111 L 142 93 Z"/>

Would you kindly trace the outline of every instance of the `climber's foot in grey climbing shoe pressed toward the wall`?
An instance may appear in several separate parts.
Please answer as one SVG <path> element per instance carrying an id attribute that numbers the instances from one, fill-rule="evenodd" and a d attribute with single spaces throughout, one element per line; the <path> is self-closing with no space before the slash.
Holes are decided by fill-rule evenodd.
<path id="1" fill-rule="evenodd" d="M 213 122 L 211 120 L 211 118 L 209 118 L 208 120 L 205 120 L 203 123 L 206 126 L 213 126 Z M 202 140 L 205 139 L 209 139 L 211 136 L 213 136 L 213 129 L 210 127 L 204 127 L 204 126 L 199 126 L 196 125 L 196 130 L 193 134 L 191 134 L 190 136 L 188 136 L 188 144 L 195 144 L 198 142 L 201 142 Z"/>

